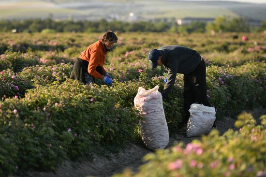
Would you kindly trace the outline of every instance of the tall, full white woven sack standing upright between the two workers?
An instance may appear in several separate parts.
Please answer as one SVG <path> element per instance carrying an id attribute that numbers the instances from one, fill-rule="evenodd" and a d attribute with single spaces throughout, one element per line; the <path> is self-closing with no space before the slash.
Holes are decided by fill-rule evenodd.
<path id="1" fill-rule="evenodd" d="M 163 110 L 163 97 L 159 86 L 146 90 L 138 88 L 134 106 L 140 111 L 139 121 L 142 141 L 150 150 L 166 148 L 169 143 L 169 132 Z"/>

